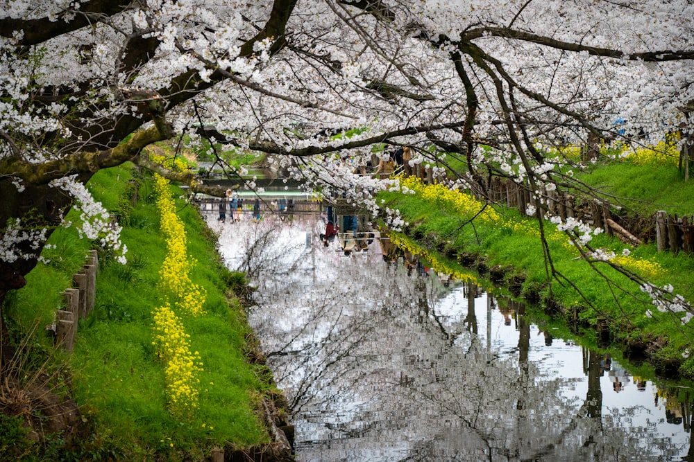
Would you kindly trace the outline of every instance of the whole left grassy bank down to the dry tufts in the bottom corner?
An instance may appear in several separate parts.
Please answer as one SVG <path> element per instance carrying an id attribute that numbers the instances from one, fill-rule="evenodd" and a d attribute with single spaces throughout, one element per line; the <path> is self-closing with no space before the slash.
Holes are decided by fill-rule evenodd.
<path id="1" fill-rule="evenodd" d="M 166 364 L 153 341 L 167 243 L 152 178 L 121 166 L 97 173 L 89 188 L 124 226 L 128 263 L 99 251 L 95 308 L 79 321 L 74 352 L 54 349 L 44 326 L 55 321 L 60 292 L 71 287 L 71 275 L 94 245 L 79 239 L 76 230 L 53 233 L 43 254 L 47 263 L 28 275 L 26 287 L 12 294 L 5 309 L 19 345 L 15 363 L 26 377 L 34 377 L 19 380 L 15 394 L 22 387 L 32 393 L 44 384 L 61 400 L 74 400 L 79 416 L 74 425 L 50 432 L 44 425 L 50 411 L 31 408 L 31 399 L 24 423 L 10 412 L 0 414 L 0 460 L 204 461 L 216 450 L 226 456 L 267 451 L 273 441 L 259 409 L 263 403 L 281 408 L 282 397 L 246 322 L 240 301 L 248 290 L 244 275 L 223 266 L 214 234 L 178 197 L 181 190 L 171 186 L 187 254 L 194 261 L 190 277 L 206 294 L 205 314 L 179 317 L 200 362 L 196 410 L 185 417 L 172 415 Z M 74 212 L 68 218 L 78 220 Z"/>

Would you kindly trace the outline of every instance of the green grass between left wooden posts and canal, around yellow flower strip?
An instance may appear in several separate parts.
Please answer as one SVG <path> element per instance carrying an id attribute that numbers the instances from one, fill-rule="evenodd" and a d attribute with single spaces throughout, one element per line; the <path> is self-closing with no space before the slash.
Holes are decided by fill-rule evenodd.
<path id="1" fill-rule="evenodd" d="M 165 410 L 162 365 L 151 346 L 151 311 L 160 302 L 156 284 L 166 247 L 151 186 L 146 184 L 140 193 L 142 200 L 130 217 L 134 226 L 123 234 L 132 263 L 107 263 L 99 275 L 94 321 L 83 330 L 83 347 L 75 357 L 81 371 L 78 396 L 103 409 L 104 423 L 119 426 L 119 432 L 130 434 L 146 451 L 173 445 L 186 452 L 224 441 L 263 443 L 266 434 L 253 414 L 252 395 L 266 384 L 244 359 L 250 330 L 239 304 L 227 302 L 222 277 L 228 272 L 219 263 L 213 236 L 190 206 L 181 206 L 179 216 L 185 222 L 188 252 L 197 260 L 193 282 L 207 292 L 207 315 L 184 323 L 192 349 L 203 359 L 201 402 L 196 418 L 185 424 Z"/>

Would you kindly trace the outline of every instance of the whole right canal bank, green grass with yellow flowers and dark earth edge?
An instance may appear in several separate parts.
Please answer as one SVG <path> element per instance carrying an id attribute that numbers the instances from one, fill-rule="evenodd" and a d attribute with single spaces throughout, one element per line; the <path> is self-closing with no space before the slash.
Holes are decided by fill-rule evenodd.
<path id="1" fill-rule="evenodd" d="M 663 175 L 662 181 L 672 181 L 671 175 Z M 557 272 L 556 278 L 548 278 L 535 220 L 514 209 L 484 207 L 469 195 L 437 185 L 424 186 L 413 179 L 402 184 L 405 194 L 382 192 L 379 202 L 400 211 L 407 222 L 403 235 L 416 245 L 452 263 L 488 272 L 518 296 L 539 303 L 541 314 L 554 323 L 561 321 L 567 332 L 582 337 L 584 343 L 597 344 L 600 332 L 611 348 L 619 348 L 631 359 L 648 359 L 659 375 L 694 377 L 690 355 L 694 328 L 691 322 L 682 323 L 684 313 L 660 312 L 637 283 L 607 263 L 591 265 L 579 258 L 555 224 L 545 222 L 543 229 Z M 658 253 L 654 243 L 632 247 L 605 233 L 594 236 L 591 245 L 613 251 L 613 262 L 658 287 L 672 285 L 673 294 L 694 299 L 690 256 Z"/>

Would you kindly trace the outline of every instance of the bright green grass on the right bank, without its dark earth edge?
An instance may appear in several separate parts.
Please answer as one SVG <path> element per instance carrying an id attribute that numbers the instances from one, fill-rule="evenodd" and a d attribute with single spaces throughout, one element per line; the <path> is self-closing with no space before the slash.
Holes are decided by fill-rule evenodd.
<path id="1" fill-rule="evenodd" d="M 386 201 L 384 205 L 400 210 L 410 224 L 407 233 L 418 237 L 420 242 L 426 240 L 430 247 L 439 247 L 448 254 L 480 256 L 489 267 L 510 265 L 516 274 L 525 277 L 526 294 L 539 292 L 545 299 L 550 296 L 543 253 L 537 238 L 538 225 L 520 217 L 517 211 L 499 209 L 502 214 L 499 222 L 475 220 L 473 225 L 465 224 L 464 218 L 452 213 L 445 204 L 424 202 L 418 195 L 381 193 L 380 197 Z M 675 315 L 657 312 L 638 285 L 606 264 L 599 263 L 596 267 L 613 283 L 591 269 L 584 260 L 576 259 L 576 252 L 552 224 L 545 226 L 545 234 L 556 269 L 585 297 L 582 299 L 575 287 L 566 281 L 552 282 L 552 299 L 561 305 L 568 317 L 573 317 L 576 310 L 577 317 L 591 326 L 607 319 L 616 340 L 630 348 L 645 348 L 659 340 L 659 348 L 648 352 L 656 364 L 661 367 L 676 364 L 682 366 L 684 375 L 694 376 L 691 359 L 684 362 L 682 357 L 694 335 L 691 326 L 683 328 Z M 612 249 L 616 254 L 630 247 L 604 235 L 594 238 L 591 245 Z M 694 300 L 693 258 L 682 254 L 657 254 L 654 245 L 631 248 L 631 251 L 629 260 L 637 272 L 659 286 L 671 283 L 675 293 Z M 645 316 L 649 309 L 654 313 L 652 318 Z M 663 339 L 667 339 L 665 344 Z"/>

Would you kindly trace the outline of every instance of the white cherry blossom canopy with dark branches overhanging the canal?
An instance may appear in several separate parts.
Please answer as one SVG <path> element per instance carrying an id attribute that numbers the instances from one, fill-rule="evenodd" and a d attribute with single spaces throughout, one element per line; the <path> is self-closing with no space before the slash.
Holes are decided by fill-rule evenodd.
<path id="1" fill-rule="evenodd" d="M 505 177 L 539 220 L 539 191 L 580 186 L 549 148 L 693 125 L 686 0 L 0 4 L 0 302 L 70 207 L 85 236 L 124 253 L 83 186 L 102 168 L 133 161 L 219 194 L 144 154 L 200 139 L 200 125 L 374 212 L 361 191 L 392 183 L 353 173 L 372 146 L 412 146 L 413 164 L 437 168 L 462 159 L 451 188 L 484 198 Z"/>

